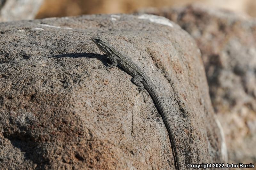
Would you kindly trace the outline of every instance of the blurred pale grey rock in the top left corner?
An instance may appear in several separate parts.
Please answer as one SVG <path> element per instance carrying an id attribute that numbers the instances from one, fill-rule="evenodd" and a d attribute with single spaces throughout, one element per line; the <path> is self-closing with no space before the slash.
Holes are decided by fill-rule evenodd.
<path id="1" fill-rule="evenodd" d="M 44 0 L 0 0 L 0 22 L 34 19 L 43 1 Z"/>

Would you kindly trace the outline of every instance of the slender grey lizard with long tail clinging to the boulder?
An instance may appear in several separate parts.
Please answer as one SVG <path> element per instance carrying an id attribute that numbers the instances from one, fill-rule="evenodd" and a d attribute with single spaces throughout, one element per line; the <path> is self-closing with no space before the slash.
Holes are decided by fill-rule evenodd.
<path id="1" fill-rule="evenodd" d="M 164 125 L 168 131 L 170 142 L 172 144 L 172 149 L 174 151 L 174 165 L 176 163 L 176 169 L 180 170 L 180 162 L 177 153 L 175 139 L 172 133 L 172 128 L 167 119 L 167 112 L 165 110 L 164 104 L 160 99 L 158 93 L 156 92 L 155 85 L 149 79 L 146 72 L 143 69 L 141 69 L 136 63 L 134 63 L 131 58 L 121 54 L 108 42 L 104 42 L 99 38 L 92 38 L 92 41 L 103 53 L 108 55 L 108 58 L 111 62 L 111 64 L 109 64 L 108 66 L 99 66 L 98 68 L 108 70 L 118 65 L 119 67 L 124 69 L 125 72 L 127 72 L 129 75 L 133 77 L 132 82 L 135 85 L 137 85 L 137 90 L 139 90 L 139 93 L 142 92 L 143 94 L 143 92 L 145 92 L 145 89 L 148 91 L 153 101 L 155 102 L 156 107 L 163 119 Z"/>

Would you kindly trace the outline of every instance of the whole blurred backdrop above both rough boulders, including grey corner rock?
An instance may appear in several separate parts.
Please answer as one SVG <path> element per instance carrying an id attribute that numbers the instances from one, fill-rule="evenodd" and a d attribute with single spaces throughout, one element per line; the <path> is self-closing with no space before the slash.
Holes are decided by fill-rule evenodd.
<path id="1" fill-rule="evenodd" d="M 0 21 L 99 13 L 132 13 L 148 7 L 205 4 L 256 17 L 256 0 L 0 0 Z"/>

